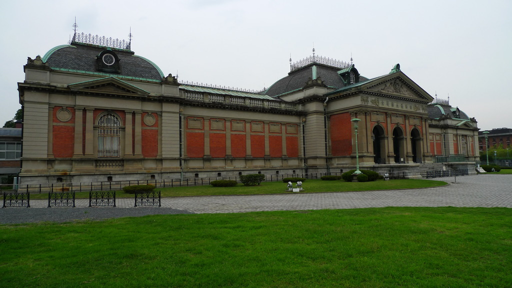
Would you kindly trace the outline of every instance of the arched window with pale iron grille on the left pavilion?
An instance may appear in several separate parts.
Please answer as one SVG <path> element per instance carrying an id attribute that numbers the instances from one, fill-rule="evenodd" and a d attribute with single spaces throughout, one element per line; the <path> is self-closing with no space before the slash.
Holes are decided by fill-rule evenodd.
<path id="1" fill-rule="evenodd" d="M 98 120 L 98 157 L 119 157 L 119 119 L 114 114 Z"/>

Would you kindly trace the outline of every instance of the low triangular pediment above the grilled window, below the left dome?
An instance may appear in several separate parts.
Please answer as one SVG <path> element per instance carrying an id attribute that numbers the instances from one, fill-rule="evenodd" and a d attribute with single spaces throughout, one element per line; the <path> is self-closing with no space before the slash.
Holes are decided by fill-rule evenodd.
<path id="1" fill-rule="evenodd" d="M 118 94 L 130 96 L 147 96 L 150 92 L 138 88 L 137 86 L 126 83 L 116 77 L 106 77 L 90 81 L 84 81 L 68 85 L 71 90 L 98 93 L 98 94 Z"/>

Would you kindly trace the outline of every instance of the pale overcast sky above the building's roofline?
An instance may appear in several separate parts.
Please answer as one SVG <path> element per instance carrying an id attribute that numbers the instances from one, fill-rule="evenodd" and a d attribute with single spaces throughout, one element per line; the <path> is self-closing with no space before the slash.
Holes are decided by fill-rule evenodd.
<path id="1" fill-rule="evenodd" d="M 475 117 L 482 130 L 512 128 L 512 1 L 5 1 L 0 126 L 20 108 L 27 57 L 78 32 L 119 39 L 180 81 L 261 90 L 285 77 L 289 58 L 353 63 L 362 76 L 400 64 L 432 97 Z M 508 79 L 508 80 L 507 80 Z"/>

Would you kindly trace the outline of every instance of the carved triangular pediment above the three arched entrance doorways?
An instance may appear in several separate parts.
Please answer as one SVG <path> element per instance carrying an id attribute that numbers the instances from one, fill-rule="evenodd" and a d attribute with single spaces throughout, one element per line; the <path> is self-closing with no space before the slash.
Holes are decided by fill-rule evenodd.
<path id="1" fill-rule="evenodd" d="M 402 72 L 378 77 L 374 81 L 369 81 L 364 89 L 378 93 L 383 97 L 409 98 L 425 102 L 432 102 L 434 100 L 429 93 L 424 91 Z"/>

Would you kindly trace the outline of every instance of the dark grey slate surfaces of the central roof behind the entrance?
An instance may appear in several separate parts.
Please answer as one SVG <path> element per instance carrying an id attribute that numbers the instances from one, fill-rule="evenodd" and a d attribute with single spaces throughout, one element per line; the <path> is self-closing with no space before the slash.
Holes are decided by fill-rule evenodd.
<path id="1" fill-rule="evenodd" d="M 342 77 L 338 75 L 339 68 L 325 66 L 322 64 L 311 64 L 300 70 L 288 73 L 288 76 L 276 81 L 270 86 L 265 94 L 275 97 L 290 91 L 301 89 L 306 85 L 309 78 L 313 78 L 312 67 L 316 66 L 316 77 L 320 77 L 324 84 L 335 89 L 345 87 Z M 359 76 L 359 81 L 367 78 Z"/>

